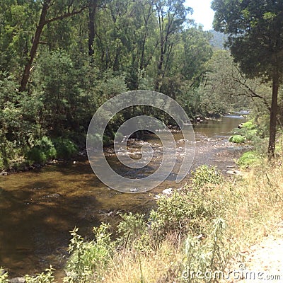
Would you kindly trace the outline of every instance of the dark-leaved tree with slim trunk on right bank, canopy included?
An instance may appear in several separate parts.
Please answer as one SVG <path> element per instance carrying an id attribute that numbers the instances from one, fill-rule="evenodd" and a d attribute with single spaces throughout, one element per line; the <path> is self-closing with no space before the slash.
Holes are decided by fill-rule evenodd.
<path id="1" fill-rule="evenodd" d="M 272 81 L 268 157 L 275 157 L 277 97 L 283 73 L 283 1 L 214 0 L 214 29 L 229 34 L 234 61 L 249 78 Z"/>

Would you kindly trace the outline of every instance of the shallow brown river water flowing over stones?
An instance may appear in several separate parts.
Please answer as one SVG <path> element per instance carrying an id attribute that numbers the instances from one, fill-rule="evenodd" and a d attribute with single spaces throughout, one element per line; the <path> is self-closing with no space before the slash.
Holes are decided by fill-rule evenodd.
<path id="1" fill-rule="evenodd" d="M 243 146 L 230 144 L 228 139 L 232 129 L 244 119 L 241 115 L 226 115 L 195 125 L 192 169 L 201 164 L 214 165 L 225 174 L 229 166 L 235 166 L 234 160 Z M 176 141 L 182 139 L 178 132 L 173 135 Z M 158 144 L 154 135 L 144 139 L 151 145 Z M 134 141 L 129 151 L 139 151 L 141 144 Z M 117 158 L 108 151 L 108 162 L 119 171 Z M 154 195 L 183 183 L 175 184 L 168 178 L 150 192 L 117 192 L 96 178 L 86 157 L 0 176 L 0 266 L 8 268 L 11 276 L 42 272 L 50 264 L 62 268 L 69 231 L 74 226 L 88 238 L 100 221 L 111 221 L 117 212 L 146 213 L 154 207 Z"/>

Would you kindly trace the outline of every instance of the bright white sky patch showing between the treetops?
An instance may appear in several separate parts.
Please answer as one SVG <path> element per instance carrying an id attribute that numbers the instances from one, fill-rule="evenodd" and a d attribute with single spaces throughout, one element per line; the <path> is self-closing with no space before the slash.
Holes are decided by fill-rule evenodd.
<path id="1" fill-rule="evenodd" d="M 201 23 L 204 30 L 212 30 L 214 11 L 210 8 L 212 0 L 186 0 L 185 6 L 192 7 L 194 12 L 190 16 L 196 23 Z"/>

